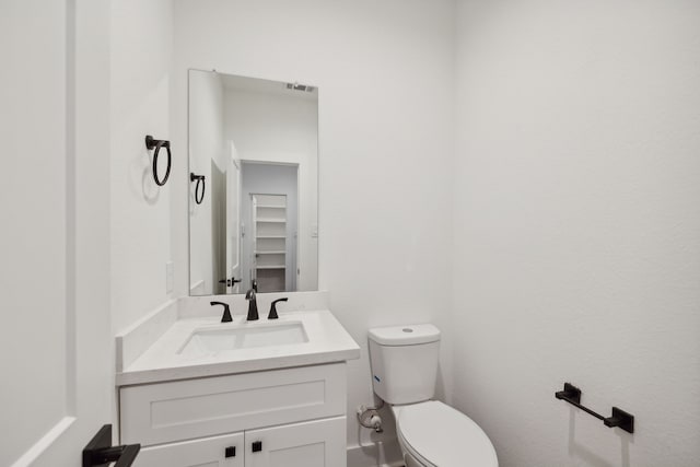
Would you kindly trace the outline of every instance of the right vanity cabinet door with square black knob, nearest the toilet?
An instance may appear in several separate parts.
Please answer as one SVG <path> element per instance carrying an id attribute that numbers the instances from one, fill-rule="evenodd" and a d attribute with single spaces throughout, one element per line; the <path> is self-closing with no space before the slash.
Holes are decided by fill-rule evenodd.
<path id="1" fill-rule="evenodd" d="M 346 467 L 346 418 L 246 431 L 245 459 L 246 467 Z"/>

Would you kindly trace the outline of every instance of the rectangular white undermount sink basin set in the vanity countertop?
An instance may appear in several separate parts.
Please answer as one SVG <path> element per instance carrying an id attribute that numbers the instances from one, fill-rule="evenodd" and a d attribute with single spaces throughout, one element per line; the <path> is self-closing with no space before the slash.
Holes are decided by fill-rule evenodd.
<path id="1" fill-rule="evenodd" d="M 235 349 L 304 342 L 308 342 L 308 337 L 301 322 L 226 325 L 195 330 L 177 353 L 203 355 Z"/>

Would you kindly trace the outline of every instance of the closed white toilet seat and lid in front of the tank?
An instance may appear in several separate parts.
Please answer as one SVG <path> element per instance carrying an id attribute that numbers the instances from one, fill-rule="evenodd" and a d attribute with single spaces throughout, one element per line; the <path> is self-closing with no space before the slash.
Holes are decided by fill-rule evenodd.
<path id="1" fill-rule="evenodd" d="M 436 400 L 394 408 L 407 451 L 438 467 L 498 467 L 495 450 L 469 417 Z"/>

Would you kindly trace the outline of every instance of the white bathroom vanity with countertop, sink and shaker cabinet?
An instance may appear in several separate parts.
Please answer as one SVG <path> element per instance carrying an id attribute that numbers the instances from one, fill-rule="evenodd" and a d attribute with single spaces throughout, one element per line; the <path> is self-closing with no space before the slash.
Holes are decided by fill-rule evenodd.
<path id="1" fill-rule="evenodd" d="M 120 443 L 141 444 L 135 465 L 345 466 L 346 361 L 360 349 L 332 314 L 222 324 L 191 316 L 191 301 L 117 339 L 131 360 L 117 386 Z"/>

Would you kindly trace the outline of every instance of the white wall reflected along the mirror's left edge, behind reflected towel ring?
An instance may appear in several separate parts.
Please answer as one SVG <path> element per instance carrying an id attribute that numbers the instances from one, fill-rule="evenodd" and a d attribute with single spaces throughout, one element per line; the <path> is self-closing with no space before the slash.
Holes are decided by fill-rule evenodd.
<path id="1" fill-rule="evenodd" d="M 205 198 L 195 202 L 196 184 L 189 184 L 190 287 L 203 281 L 203 292 L 213 293 L 211 242 L 211 162 L 225 172 L 224 93 L 217 73 L 189 73 L 189 171 L 205 178 Z M 183 148 L 185 148 L 183 145 Z M 188 175 L 188 174 L 187 174 Z M 187 178 L 189 179 L 189 178 Z"/>

